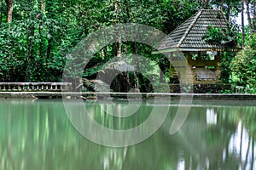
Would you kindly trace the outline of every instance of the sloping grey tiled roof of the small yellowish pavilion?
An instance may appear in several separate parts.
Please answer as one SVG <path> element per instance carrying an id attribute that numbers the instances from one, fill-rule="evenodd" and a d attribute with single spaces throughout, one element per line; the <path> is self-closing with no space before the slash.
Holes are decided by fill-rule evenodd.
<path id="1" fill-rule="evenodd" d="M 224 14 L 220 10 L 202 9 L 189 20 L 183 22 L 172 31 L 158 46 L 159 51 L 237 51 L 237 45 L 227 48 L 225 45 L 213 44 L 205 41 L 208 26 L 227 28 L 229 25 Z"/>

